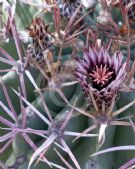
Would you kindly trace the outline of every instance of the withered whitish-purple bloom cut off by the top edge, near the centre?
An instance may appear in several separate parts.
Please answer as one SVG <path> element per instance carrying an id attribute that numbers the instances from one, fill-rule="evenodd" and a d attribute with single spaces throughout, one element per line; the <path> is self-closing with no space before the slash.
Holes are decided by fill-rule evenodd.
<path id="1" fill-rule="evenodd" d="M 69 20 L 76 9 L 80 6 L 80 0 L 55 0 L 58 8 L 60 9 L 60 14 L 65 20 Z M 82 8 L 78 13 L 78 17 L 80 16 Z"/>

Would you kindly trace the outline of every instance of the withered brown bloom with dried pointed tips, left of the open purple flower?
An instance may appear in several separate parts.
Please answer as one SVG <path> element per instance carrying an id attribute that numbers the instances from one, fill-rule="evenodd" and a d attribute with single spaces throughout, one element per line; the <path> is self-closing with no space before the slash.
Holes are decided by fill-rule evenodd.
<path id="1" fill-rule="evenodd" d="M 53 37 L 48 31 L 48 27 L 49 25 L 45 25 L 42 18 L 34 18 L 28 28 L 32 43 L 28 46 L 27 55 L 32 64 L 37 63 L 40 67 L 45 67 L 44 52 L 54 50 Z"/>

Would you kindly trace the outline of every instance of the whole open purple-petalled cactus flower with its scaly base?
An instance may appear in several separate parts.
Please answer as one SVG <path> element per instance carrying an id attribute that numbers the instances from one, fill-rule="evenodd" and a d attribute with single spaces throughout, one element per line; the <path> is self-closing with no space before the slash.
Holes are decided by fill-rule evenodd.
<path id="1" fill-rule="evenodd" d="M 98 108 L 103 103 L 105 108 L 111 105 L 126 77 L 126 63 L 122 64 L 122 57 L 121 53 L 110 56 L 105 48 L 92 47 L 84 52 L 83 60 L 77 58 L 76 78 L 90 99 L 90 92 L 93 93 Z"/>

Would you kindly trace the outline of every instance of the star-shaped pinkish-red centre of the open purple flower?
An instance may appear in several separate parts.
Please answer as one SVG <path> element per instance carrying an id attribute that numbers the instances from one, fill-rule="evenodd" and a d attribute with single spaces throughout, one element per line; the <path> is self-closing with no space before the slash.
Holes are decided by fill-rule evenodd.
<path id="1" fill-rule="evenodd" d="M 95 69 L 89 73 L 90 77 L 93 80 L 93 83 L 98 86 L 97 88 L 103 88 L 108 84 L 110 79 L 112 79 L 113 71 L 110 71 L 107 66 L 103 66 L 102 64 L 100 67 L 96 65 Z"/>

